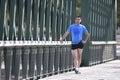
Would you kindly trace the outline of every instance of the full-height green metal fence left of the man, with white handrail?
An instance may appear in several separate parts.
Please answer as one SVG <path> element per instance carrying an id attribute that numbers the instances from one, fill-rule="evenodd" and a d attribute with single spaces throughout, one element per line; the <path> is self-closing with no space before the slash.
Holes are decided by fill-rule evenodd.
<path id="1" fill-rule="evenodd" d="M 0 80 L 36 79 L 73 69 L 68 37 L 75 0 L 0 0 Z"/>

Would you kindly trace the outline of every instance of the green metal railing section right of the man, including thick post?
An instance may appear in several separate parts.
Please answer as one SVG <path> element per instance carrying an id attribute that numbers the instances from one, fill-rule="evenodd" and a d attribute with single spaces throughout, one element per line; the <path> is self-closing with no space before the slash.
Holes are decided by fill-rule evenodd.
<path id="1" fill-rule="evenodd" d="M 116 44 L 107 44 L 109 41 L 116 41 L 115 5 L 116 0 L 81 0 L 82 22 L 90 33 L 83 51 L 84 65 L 94 65 L 116 58 Z M 93 41 L 98 45 L 91 44 Z M 102 41 L 105 43 L 102 44 Z"/>

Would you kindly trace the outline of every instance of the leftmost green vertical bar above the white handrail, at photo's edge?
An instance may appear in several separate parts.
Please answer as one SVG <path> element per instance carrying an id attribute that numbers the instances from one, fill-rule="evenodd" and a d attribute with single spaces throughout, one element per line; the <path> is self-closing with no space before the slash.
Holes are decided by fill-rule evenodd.
<path id="1" fill-rule="evenodd" d="M 6 7 L 7 7 L 7 0 L 1 0 L 1 4 L 0 4 L 0 30 L 1 30 L 1 33 L 0 33 L 0 40 L 3 40 L 4 38 L 4 27 L 5 27 L 5 24 L 6 24 Z"/>

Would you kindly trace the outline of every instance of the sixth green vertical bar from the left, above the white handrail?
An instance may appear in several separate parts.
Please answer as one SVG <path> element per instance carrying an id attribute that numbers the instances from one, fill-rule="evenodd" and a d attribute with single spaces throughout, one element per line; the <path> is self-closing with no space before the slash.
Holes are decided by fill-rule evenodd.
<path id="1" fill-rule="evenodd" d="M 46 0 L 42 0 L 41 15 L 40 15 L 40 40 L 44 40 L 45 8 L 46 8 Z"/>

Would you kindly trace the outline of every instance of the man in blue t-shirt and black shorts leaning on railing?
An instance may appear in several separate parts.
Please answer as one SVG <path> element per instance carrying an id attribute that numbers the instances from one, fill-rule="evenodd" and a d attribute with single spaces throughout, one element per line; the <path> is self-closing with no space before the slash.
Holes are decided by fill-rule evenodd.
<path id="1" fill-rule="evenodd" d="M 75 19 L 75 24 L 68 27 L 67 31 L 64 33 L 63 37 L 60 38 L 62 42 L 69 33 L 72 34 L 72 56 L 74 60 L 75 73 L 79 74 L 79 66 L 81 65 L 83 46 L 87 42 L 89 33 L 86 27 L 81 23 L 81 17 L 77 16 Z M 85 39 L 82 39 L 82 34 L 85 33 Z"/>

